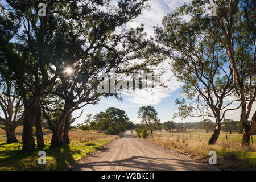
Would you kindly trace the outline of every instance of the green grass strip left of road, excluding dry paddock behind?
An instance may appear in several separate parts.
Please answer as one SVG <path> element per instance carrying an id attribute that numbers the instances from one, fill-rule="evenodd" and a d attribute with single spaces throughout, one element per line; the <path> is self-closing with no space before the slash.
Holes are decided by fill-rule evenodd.
<path id="1" fill-rule="evenodd" d="M 22 143 L 6 144 L 0 142 L 0 170 L 56 170 L 63 169 L 85 155 L 91 154 L 98 148 L 114 140 L 114 137 L 92 140 L 79 143 L 71 141 L 69 146 L 49 148 L 50 142 L 46 142 L 46 165 L 38 164 L 38 151 L 29 153 L 18 152 Z"/>

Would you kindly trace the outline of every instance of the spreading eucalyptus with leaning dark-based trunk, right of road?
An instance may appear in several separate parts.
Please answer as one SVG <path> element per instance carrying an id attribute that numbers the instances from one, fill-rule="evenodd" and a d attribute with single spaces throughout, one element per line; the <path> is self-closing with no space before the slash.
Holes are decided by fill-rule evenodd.
<path id="1" fill-rule="evenodd" d="M 175 100 L 179 112 L 174 117 L 215 118 L 216 128 L 208 142 L 214 144 L 225 113 L 240 107 L 230 107 L 236 99 L 228 100 L 234 95 L 232 67 L 225 68 L 228 60 L 217 39 L 211 39 L 207 33 L 202 34 L 200 24 L 193 24 L 193 20 L 185 22 L 182 13 L 177 10 L 168 14 L 163 19 L 164 27 L 155 29 L 158 42 L 165 46 L 167 55 L 172 59 L 175 77 L 184 82 L 184 96 L 192 102 L 188 104 L 184 98 Z"/>

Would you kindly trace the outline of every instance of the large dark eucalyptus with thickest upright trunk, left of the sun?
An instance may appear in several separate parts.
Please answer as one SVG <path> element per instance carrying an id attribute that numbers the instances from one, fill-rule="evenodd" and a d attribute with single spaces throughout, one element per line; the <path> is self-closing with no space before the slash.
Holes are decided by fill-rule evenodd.
<path id="1" fill-rule="evenodd" d="M 78 2 L 44 2 L 48 3 L 47 14 L 40 17 L 37 14 L 38 1 L 6 1 L 1 4 L 1 22 L 7 22 L 1 24 L 3 35 L 7 35 L 1 36 L 0 45 L 1 64 L 8 68 L 3 75 L 15 80 L 24 104 L 22 151 L 33 149 L 32 125 L 44 90 L 54 85 L 64 71 L 69 52 L 77 52 L 77 59 L 84 52 L 76 28 L 72 23 L 65 27 L 68 20 L 77 23 Z M 61 31 L 73 31 L 73 34 L 69 39 L 60 39 L 56 32 Z"/>

